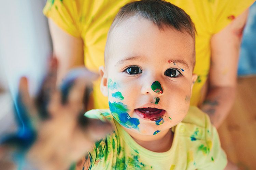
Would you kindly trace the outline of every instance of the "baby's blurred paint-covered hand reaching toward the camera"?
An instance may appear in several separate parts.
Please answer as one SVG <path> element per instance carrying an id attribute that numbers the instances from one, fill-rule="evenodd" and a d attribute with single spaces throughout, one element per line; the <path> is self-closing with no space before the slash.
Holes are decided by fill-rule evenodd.
<path id="1" fill-rule="evenodd" d="M 56 73 L 54 58 L 36 99 L 29 96 L 27 79 L 20 80 L 15 115 L 19 128 L 1 141 L 2 146 L 12 149 L 15 146 L 39 169 L 69 168 L 112 129 L 107 121 L 83 116 L 88 87 L 98 76 L 85 68 L 77 68 L 57 89 Z"/>

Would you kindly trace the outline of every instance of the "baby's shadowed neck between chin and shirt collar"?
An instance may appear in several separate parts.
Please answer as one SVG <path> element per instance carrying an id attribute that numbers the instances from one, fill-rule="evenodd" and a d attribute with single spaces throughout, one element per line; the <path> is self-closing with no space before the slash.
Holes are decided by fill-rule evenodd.
<path id="1" fill-rule="evenodd" d="M 173 141 L 173 133 L 171 129 L 161 131 L 157 135 L 138 135 L 134 132 L 126 131 L 131 137 L 142 147 L 153 152 L 166 152 L 170 150 Z"/>

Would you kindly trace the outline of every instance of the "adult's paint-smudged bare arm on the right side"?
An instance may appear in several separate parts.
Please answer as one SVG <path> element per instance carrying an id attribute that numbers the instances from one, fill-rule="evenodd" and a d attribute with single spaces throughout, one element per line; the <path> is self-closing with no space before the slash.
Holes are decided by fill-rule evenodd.
<path id="1" fill-rule="evenodd" d="M 209 90 L 201 109 L 216 128 L 228 115 L 235 99 L 239 51 L 248 11 L 211 38 Z"/>

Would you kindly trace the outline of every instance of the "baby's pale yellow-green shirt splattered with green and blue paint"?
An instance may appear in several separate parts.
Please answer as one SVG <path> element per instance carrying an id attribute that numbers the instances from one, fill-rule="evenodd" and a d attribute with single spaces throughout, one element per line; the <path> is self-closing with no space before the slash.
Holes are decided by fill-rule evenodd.
<path id="1" fill-rule="evenodd" d="M 84 157 L 78 169 L 222 170 L 227 164 L 216 129 L 209 117 L 195 106 L 190 106 L 186 118 L 172 128 L 171 149 L 162 153 L 136 143 L 113 119 L 109 109 L 95 109 L 85 115 L 110 120 L 114 128 L 112 133 L 95 143 L 88 152 L 89 158 Z M 90 159 L 89 167 L 86 167 L 86 158 Z"/>

